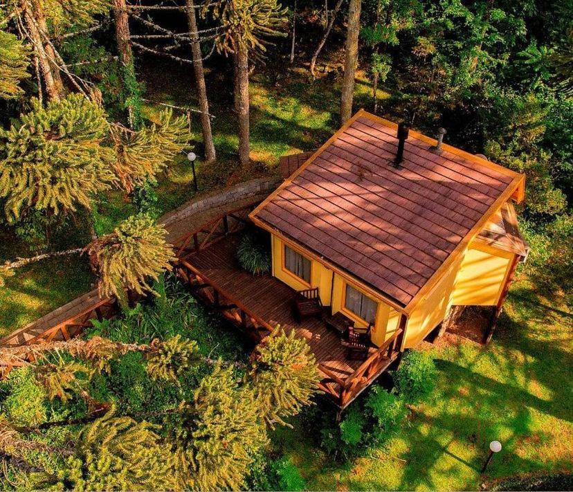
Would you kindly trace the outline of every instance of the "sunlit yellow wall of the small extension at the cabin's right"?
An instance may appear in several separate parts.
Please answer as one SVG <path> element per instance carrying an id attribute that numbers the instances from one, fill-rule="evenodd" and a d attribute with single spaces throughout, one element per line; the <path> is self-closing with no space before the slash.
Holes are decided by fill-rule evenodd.
<path id="1" fill-rule="evenodd" d="M 473 243 L 455 281 L 452 304 L 494 306 L 498 303 L 513 253 Z"/>

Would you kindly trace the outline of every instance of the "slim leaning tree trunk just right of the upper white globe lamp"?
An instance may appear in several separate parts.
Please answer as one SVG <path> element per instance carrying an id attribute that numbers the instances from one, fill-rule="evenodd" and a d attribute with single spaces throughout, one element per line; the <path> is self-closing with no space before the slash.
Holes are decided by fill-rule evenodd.
<path id="1" fill-rule="evenodd" d="M 193 0 L 185 0 L 187 6 L 187 21 L 189 33 L 191 35 L 191 53 L 193 59 L 193 69 L 195 71 L 195 84 L 197 84 L 197 98 L 199 99 L 199 109 L 201 110 L 201 129 L 203 131 L 203 145 L 205 145 L 205 161 L 212 163 L 217 158 L 215 145 L 211 133 L 211 120 L 209 117 L 209 102 L 207 100 L 207 89 L 205 86 L 205 76 L 203 75 L 203 60 L 201 55 L 201 43 L 197 33 L 197 19 L 195 17 L 195 6 Z"/>

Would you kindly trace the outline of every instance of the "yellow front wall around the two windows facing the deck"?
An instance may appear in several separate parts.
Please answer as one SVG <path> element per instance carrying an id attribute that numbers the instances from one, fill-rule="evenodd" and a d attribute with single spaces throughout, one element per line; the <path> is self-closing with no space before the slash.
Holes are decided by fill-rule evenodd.
<path id="1" fill-rule="evenodd" d="M 300 291 L 302 289 L 308 289 L 310 287 L 318 287 L 320 293 L 320 300 L 325 306 L 331 305 L 332 313 L 337 313 L 338 311 L 343 311 L 345 316 L 354 320 L 354 325 L 358 329 L 365 329 L 367 324 L 354 313 L 347 311 L 343 307 L 343 298 L 346 289 L 346 280 L 340 275 L 333 273 L 329 268 L 311 259 L 311 283 L 310 285 L 302 282 L 300 279 L 292 275 L 290 272 L 285 271 L 282 265 L 283 255 L 284 255 L 284 242 L 279 237 L 275 235 L 271 236 L 272 239 L 272 251 L 273 251 L 273 275 L 285 284 L 291 286 L 293 289 Z M 298 250 L 299 253 L 304 255 L 304 250 L 300 248 L 295 248 L 289 245 L 291 248 Z M 308 256 L 307 256 L 308 257 Z M 310 259 L 310 258 L 309 258 Z M 334 275 L 334 283 L 332 276 Z M 351 284 L 354 289 L 363 292 L 363 289 Z M 332 302 L 330 299 L 332 292 Z M 385 302 L 373 298 L 372 295 L 368 295 L 372 300 L 378 303 L 378 308 L 376 309 L 376 320 L 374 322 L 374 328 L 372 329 L 372 342 L 376 345 L 381 345 L 384 341 L 391 336 L 392 333 L 397 329 L 399 322 L 399 313 L 394 311 Z M 388 329 L 387 329 L 388 325 Z"/>

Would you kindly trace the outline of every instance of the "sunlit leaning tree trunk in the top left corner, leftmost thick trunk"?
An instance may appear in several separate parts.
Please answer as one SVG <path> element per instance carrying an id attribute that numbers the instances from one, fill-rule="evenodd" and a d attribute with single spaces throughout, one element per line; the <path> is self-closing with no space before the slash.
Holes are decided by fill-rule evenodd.
<path id="1" fill-rule="evenodd" d="M 64 84 L 60 76 L 60 69 L 55 63 L 55 53 L 52 46 L 46 42 L 47 26 L 42 6 L 37 0 L 21 3 L 24 22 L 28 29 L 28 36 L 32 42 L 35 56 L 42 71 L 42 78 L 46 85 L 46 95 L 48 100 L 59 101 L 64 94 Z"/>

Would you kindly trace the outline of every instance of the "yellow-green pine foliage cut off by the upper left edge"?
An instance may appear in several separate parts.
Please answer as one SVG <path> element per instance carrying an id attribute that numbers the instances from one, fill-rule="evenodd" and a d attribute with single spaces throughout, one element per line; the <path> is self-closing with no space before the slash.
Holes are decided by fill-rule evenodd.
<path id="1" fill-rule="evenodd" d="M 23 93 L 19 83 L 30 76 L 28 56 L 28 48 L 15 35 L 0 29 L 0 98 L 14 99 Z"/>

